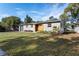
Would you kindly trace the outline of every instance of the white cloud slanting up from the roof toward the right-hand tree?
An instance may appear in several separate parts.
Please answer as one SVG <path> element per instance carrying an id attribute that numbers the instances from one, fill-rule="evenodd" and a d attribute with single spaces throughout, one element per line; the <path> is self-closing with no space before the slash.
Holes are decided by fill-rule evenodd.
<path id="1" fill-rule="evenodd" d="M 59 19 L 59 16 L 63 13 L 64 8 L 66 6 L 62 6 L 62 7 L 58 8 L 58 4 L 53 5 L 51 11 L 49 12 L 49 14 L 46 15 L 46 16 L 43 16 L 41 18 L 41 20 L 43 20 L 43 21 L 48 20 L 50 16 L 54 16 L 55 18 Z"/>

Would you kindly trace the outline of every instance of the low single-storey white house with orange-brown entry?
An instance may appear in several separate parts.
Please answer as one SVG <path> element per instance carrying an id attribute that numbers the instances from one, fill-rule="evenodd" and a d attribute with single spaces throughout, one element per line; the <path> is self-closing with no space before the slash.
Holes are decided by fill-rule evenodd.
<path id="1" fill-rule="evenodd" d="M 45 21 L 36 23 L 21 24 L 19 26 L 19 31 L 26 32 L 41 32 L 41 31 L 55 31 L 60 30 L 61 21 Z"/>

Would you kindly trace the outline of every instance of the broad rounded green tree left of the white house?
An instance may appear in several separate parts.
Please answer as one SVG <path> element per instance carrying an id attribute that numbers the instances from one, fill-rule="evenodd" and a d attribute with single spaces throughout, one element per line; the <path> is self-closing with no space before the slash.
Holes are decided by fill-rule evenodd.
<path id="1" fill-rule="evenodd" d="M 2 18 L 2 26 L 5 27 L 7 31 L 18 30 L 18 26 L 20 23 L 20 18 L 16 16 Z"/>

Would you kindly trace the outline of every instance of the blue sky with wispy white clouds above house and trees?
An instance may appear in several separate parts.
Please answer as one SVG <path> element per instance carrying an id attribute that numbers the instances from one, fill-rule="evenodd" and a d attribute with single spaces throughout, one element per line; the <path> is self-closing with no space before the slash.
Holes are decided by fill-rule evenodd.
<path id="1" fill-rule="evenodd" d="M 25 16 L 29 15 L 35 21 L 45 21 L 50 16 L 59 18 L 67 6 L 65 3 L 0 3 L 0 19 L 18 16 L 24 20 Z"/>

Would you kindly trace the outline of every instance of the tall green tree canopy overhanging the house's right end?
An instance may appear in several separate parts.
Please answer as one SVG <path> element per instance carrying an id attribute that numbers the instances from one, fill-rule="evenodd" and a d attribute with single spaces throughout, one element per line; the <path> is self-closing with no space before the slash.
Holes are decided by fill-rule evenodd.
<path id="1" fill-rule="evenodd" d="M 71 27 L 72 27 L 72 29 L 74 29 L 74 26 L 75 26 L 74 22 L 77 23 L 79 21 L 79 3 L 70 3 L 64 9 L 64 13 L 60 15 L 60 19 L 64 20 L 64 23 L 66 23 L 68 20 L 70 20 Z"/>

